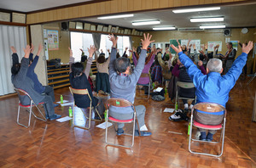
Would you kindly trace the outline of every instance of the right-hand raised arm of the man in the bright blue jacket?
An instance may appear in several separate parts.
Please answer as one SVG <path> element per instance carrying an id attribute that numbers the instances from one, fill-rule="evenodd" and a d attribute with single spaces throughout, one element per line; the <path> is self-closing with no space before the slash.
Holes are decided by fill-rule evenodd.
<path id="1" fill-rule="evenodd" d="M 247 62 L 247 54 L 251 51 L 251 49 L 253 49 L 252 41 L 248 42 L 247 46 L 244 43 L 242 44 L 241 55 L 237 57 L 237 59 L 232 64 L 230 70 L 228 71 L 228 73 L 224 75 L 224 78 L 230 81 L 233 81 L 230 83 L 234 83 L 235 85 L 238 77 L 241 75 L 242 68 Z M 230 87 L 234 87 L 234 85 Z"/>

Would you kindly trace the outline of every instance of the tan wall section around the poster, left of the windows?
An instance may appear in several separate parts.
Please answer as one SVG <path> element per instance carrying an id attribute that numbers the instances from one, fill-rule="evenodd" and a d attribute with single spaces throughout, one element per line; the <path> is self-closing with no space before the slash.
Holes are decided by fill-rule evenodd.
<path id="1" fill-rule="evenodd" d="M 70 33 L 69 31 L 61 31 L 61 22 L 44 24 L 44 29 L 59 31 L 59 49 L 48 51 L 50 59 L 61 59 L 61 63 L 68 64 L 70 47 Z"/>

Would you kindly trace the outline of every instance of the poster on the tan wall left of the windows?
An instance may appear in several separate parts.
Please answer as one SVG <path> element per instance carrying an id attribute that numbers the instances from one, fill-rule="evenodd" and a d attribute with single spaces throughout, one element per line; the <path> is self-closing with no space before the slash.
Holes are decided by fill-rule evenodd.
<path id="1" fill-rule="evenodd" d="M 58 50 L 59 49 L 59 33 L 55 30 L 47 30 L 48 38 L 48 49 Z"/>

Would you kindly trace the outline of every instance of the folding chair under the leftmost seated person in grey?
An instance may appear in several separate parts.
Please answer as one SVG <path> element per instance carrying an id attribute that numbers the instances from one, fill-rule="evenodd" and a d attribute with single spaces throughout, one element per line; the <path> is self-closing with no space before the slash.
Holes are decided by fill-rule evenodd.
<path id="1" fill-rule="evenodd" d="M 39 105 L 39 104 L 40 104 L 40 105 L 43 105 L 44 102 L 39 103 L 39 104 L 37 105 L 37 104 L 34 103 L 34 101 L 32 100 L 32 98 L 30 97 L 30 95 L 29 95 L 26 91 L 24 91 L 24 90 L 22 90 L 22 89 L 20 89 L 20 88 L 15 88 L 15 91 L 16 91 L 16 92 L 18 93 L 18 95 L 19 95 L 19 108 L 18 108 L 18 115 L 17 115 L 17 124 L 19 124 L 20 126 L 24 126 L 24 127 L 28 128 L 28 127 L 30 126 L 31 115 L 34 115 L 34 117 L 37 118 L 38 120 L 44 120 L 44 121 L 47 120 L 47 119 L 45 118 L 45 116 L 43 115 L 43 113 L 41 112 L 41 110 L 38 108 L 38 105 Z M 27 96 L 27 97 L 30 99 L 30 104 L 29 104 L 29 105 L 21 104 L 21 101 L 20 101 L 20 97 L 21 97 L 21 96 Z M 35 115 L 35 114 L 32 112 L 32 107 L 36 107 L 36 108 L 38 109 L 40 115 L 43 116 L 43 118 L 40 118 L 40 117 L 38 117 L 37 115 Z M 28 124 L 27 124 L 27 126 L 25 126 L 25 125 L 23 125 L 23 124 L 20 123 L 20 108 L 29 109 L 29 118 L 28 118 Z"/>

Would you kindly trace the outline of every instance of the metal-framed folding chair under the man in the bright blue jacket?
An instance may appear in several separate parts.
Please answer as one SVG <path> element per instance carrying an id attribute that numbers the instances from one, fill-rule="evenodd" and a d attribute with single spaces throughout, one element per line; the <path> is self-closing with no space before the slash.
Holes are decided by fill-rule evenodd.
<path id="1" fill-rule="evenodd" d="M 221 123 L 222 127 L 218 128 L 218 129 L 209 129 L 207 127 L 202 127 L 202 126 L 195 126 L 194 124 L 194 120 L 193 120 L 193 112 L 195 109 L 200 109 L 201 110 L 201 106 L 202 105 L 207 105 L 207 107 L 209 107 L 209 110 L 212 108 L 216 108 L 218 109 L 218 111 L 208 111 L 208 112 L 219 112 L 219 111 L 224 111 L 224 119 L 223 122 Z M 207 108 L 208 109 L 208 108 Z M 206 111 L 207 112 L 207 111 Z M 190 120 L 190 131 L 189 131 L 189 152 L 192 154 L 203 154 L 203 155 L 208 155 L 208 156 L 215 156 L 215 157 L 220 157 L 223 154 L 224 151 L 224 130 L 225 130 L 225 123 L 226 123 L 226 109 L 224 108 L 224 106 L 220 105 L 220 104 L 213 104 L 213 103 L 199 103 L 199 104 L 195 104 L 195 106 L 193 107 L 193 109 L 191 110 L 191 120 Z M 203 128 L 203 129 L 207 129 L 207 130 L 222 130 L 220 137 L 219 137 L 219 141 L 218 142 L 208 142 L 208 141 L 202 141 L 202 140 L 198 140 L 195 138 L 192 138 L 192 130 L 193 130 L 193 126 L 198 127 L 198 128 Z M 207 125 L 203 125 L 203 126 L 207 126 Z M 221 151 L 220 154 L 208 154 L 208 153 L 201 153 L 201 152 L 195 152 L 193 150 L 191 150 L 191 142 L 192 141 L 197 141 L 199 143 L 221 143 Z"/>

